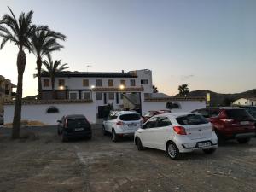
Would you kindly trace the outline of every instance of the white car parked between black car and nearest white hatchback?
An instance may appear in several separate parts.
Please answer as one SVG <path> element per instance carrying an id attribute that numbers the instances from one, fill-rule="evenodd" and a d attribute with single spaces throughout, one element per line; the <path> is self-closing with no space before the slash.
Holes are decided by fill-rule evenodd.
<path id="1" fill-rule="evenodd" d="M 131 111 L 114 111 L 103 121 L 102 129 L 104 135 L 112 134 L 113 142 L 119 137 L 134 136 L 134 132 L 142 127 L 140 114 Z"/>

